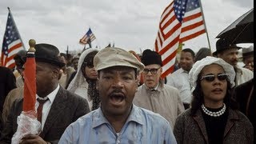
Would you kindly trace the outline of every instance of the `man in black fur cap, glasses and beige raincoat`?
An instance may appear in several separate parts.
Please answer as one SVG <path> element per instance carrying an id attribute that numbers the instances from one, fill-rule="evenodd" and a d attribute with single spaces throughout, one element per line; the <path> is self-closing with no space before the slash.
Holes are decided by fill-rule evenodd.
<path id="1" fill-rule="evenodd" d="M 144 84 L 138 87 L 134 97 L 134 105 L 162 115 L 174 128 L 174 122 L 184 111 L 184 106 L 177 88 L 164 84 L 160 78 L 162 74 L 162 58 L 152 50 L 144 50 L 142 63 L 145 69 L 142 72 Z"/>

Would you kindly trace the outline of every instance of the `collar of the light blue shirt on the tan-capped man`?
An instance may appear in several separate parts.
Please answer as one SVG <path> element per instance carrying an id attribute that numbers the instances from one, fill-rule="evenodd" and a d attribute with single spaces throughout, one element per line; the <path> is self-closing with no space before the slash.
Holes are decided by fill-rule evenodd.
<path id="1" fill-rule="evenodd" d="M 99 107 L 97 110 L 94 111 L 93 115 L 93 128 L 100 126 L 104 123 L 110 124 L 110 122 L 107 121 L 107 119 L 104 117 L 102 113 L 101 107 Z M 144 122 L 142 121 L 142 114 L 141 110 L 138 109 L 138 106 L 133 105 L 132 110 L 130 111 L 130 115 L 126 120 L 126 123 L 128 122 L 137 122 L 138 124 L 143 125 Z M 125 124 L 126 125 L 126 124 Z"/>

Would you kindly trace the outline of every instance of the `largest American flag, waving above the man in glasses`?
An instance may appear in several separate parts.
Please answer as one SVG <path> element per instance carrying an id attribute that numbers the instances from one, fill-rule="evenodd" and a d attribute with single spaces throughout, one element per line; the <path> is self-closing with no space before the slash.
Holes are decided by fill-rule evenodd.
<path id="1" fill-rule="evenodd" d="M 154 43 L 162 56 L 162 78 L 174 70 L 178 45 L 205 32 L 199 0 L 174 0 L 166 7 Z"/>

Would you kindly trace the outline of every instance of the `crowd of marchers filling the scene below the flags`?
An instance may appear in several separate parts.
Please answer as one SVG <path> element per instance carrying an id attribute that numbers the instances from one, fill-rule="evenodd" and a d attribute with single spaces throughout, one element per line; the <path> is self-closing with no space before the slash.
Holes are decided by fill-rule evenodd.
<path id="1" fill-rule="evenodd" d="M 214 53 L 184 48 L 166 78 L 150 49 L 34 48 L 41 127 L 19 143 L 255 143 L 254 46 L 221 38 Z M 0 66 L 0 143 L 12 142 L 25 105 L 26 50 L 14 60 L 15 70 Z"/>

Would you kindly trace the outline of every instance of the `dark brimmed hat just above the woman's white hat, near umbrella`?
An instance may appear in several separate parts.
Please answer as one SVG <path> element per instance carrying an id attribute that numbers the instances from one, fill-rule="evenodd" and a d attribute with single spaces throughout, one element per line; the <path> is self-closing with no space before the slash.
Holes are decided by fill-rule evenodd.
<path id="1" fill-rule="evenodd" d="M 216 42 L 216 51 L 213 53 L 213 55 L 215 56 L 223 50 L 229 50 L 229 49 L 233 49 L 233 48 L 237 48 L 239 50 L 242 47 L 239 47 L 235 44 L 231 44 L 231 42 L 227 41 L 226 38 L 220 38 Z"/>

